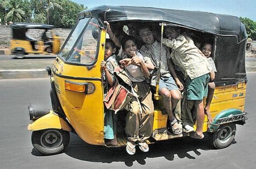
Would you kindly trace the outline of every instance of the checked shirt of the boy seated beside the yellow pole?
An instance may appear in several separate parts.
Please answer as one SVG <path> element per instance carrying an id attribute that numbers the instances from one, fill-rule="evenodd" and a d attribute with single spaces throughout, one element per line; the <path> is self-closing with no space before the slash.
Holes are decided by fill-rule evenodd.
<path id="1" fill-rule="evenodd" d="M 160 61 L 160 43 L 157 41 L 154 41 L 152 45 L 145 44 L 142 46 L 140 49 L 140 53 L 144 57 L 149 57 L 152 60 L 152 63 L 154 66 L 158 69 L 159 61 Z M 160 74 L 166 74 L 169 73 L 169 67 L 167 64 L 167 59 L 171 59 L 170 57 L 170 52 L 167 46 L 163 45 L 162 48 L 162 58 L 161 58 L 161 69 L 160 69 Z M 156 86 L 157 84 L 157 71 L 154 70 L 153 73 L 151 74 L 152 78 L 150 81 L 150 84 L 152 86 Z"/>

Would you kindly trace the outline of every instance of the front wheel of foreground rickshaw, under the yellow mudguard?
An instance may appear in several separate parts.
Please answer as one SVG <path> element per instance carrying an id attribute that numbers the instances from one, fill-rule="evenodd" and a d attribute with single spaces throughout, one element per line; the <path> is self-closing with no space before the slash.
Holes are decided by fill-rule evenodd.
<path id="1" fill-rule="evenodd" d="M 32 145 L 44 155 L 62 152 L 68 145 L 70 133 L 60 129 L 45 129 L 32 132 Z"/>

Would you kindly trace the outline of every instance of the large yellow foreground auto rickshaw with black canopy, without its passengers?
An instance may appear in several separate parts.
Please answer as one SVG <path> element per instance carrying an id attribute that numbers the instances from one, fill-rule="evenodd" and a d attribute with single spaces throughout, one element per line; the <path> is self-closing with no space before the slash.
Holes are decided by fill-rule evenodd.
<path id="1" fill-rule="evenodd" d="M 210 107 L 214 122 L 204 120 L 203 132 L 209 133 L 210 143 L 216 148 L 230 145 L 236 134 L 236 124 L 247 119 L 244 111 L 247 76 L 245 72 L 245 47 L 247 34 L 238 17 L 198 11 L 179 11 L 128 6 L 99 6 L 78 14 L 79 20 L 70 32 L 56 57 L 50 76 L 52 110 L 29 106 L 32 144 L 47 155 L 63 151 L 69 142 L 69 132 L 76 133 L 87 143 L 104 143 L 104 105 L 102 71 L 106 26 L 121 26 L 145 22 L 159 26 L 180 26 L 213 40 L 213 58 L 217 67 L 215 94 Z M 160 30 L 160 29 L 159 29 Z M 152 137 L 147 143 L 188 136 L 170 135 L 167 132 L 167 115 L 154 110 Z M 117 113 L 118 114 L 118 113 Z M 117 146 L 127 139 L 117 134 Z"/>

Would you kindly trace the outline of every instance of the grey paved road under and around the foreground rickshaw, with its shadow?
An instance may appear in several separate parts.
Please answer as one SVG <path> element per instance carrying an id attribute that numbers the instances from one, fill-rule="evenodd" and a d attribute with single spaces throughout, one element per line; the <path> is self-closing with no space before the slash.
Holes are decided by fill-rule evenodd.
<path id="1" fill-rule="evenodd" d="M 26 130 L 29 103 L 50 108 L 49 79 L 0 80 L 1 169 L 255 169 L 256 166 L 256 73 L 248 73 L 245 126 L 237 126 L 233 144 L 216 150 L 207 139 L 190 138 L 150 145 L 150 151 L 127 155 L 124 148 L 91 146 L 71 135 L 65 153 L 41 156 L 33 149 Z"/>

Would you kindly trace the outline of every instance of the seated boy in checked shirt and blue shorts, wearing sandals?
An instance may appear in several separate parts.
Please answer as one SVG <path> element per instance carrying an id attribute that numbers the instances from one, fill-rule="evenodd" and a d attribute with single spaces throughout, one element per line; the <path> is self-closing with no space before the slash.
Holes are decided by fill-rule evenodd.
<path id="1" fill-rule="evenodd" d="M 163 46 L 162 48 L 162 57 L 160 59 L 160 43 L 154 39 L 153 32 L 151 30 L 150 26 L 140 28 L 140 38 L 143 43 L 145 43 L 140 49 L 140 52 L 144 57 L 149 57 L 154 66 L 157 69 L 160 69 L 159 92 L 163 96 L 163 105 L 165 106 L 164 108 L 169 117 L 172 133 L 179 135 L 182 133 L 182 126 L 177 122 L 177 119 L 173 115 L 172 107 L 176 107 L 179 102 L 179 90 L 183 89 L 183 85 L 177 78 L 170 60 L 171 57 L 169 49 L 166 46 Z M 161 67 L 159 68 L 160 60 Z M 158 71 L 153 71 L 150 81 L 150 85 L 153 89 L 157 84 L 157 72 Z"/>

